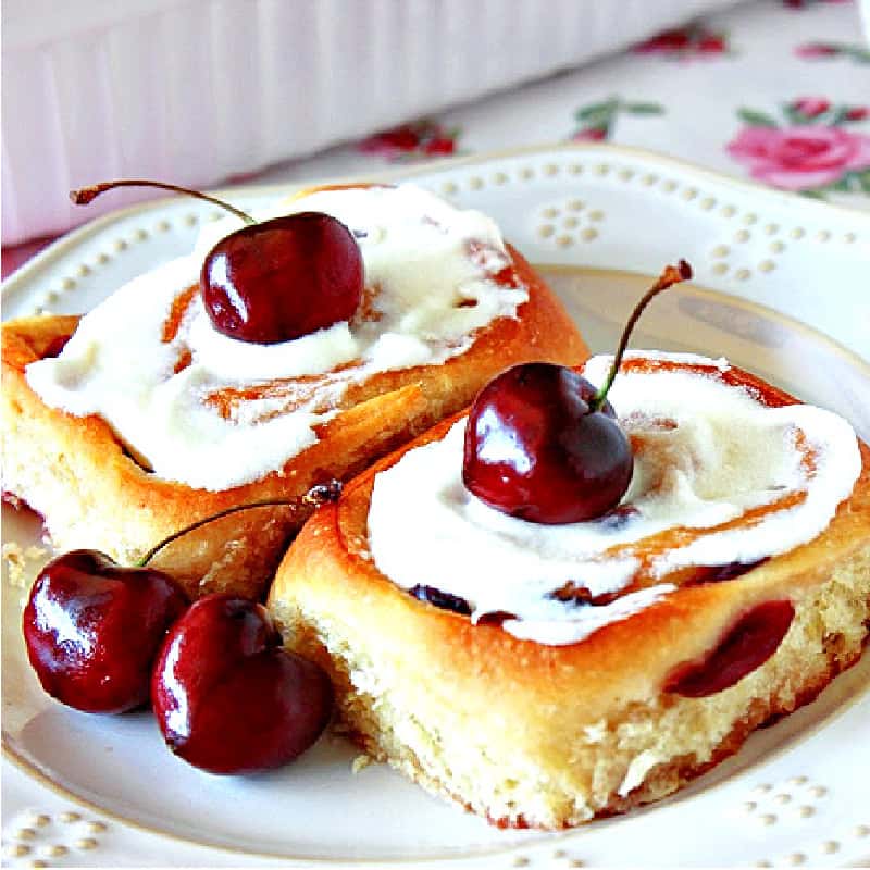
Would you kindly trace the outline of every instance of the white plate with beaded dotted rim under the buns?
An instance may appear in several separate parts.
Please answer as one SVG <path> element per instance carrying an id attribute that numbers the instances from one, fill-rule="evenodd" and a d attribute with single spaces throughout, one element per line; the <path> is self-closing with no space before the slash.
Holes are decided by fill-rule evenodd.
<path id="1" fill-rule="evenodd" d="M 605 146 L 405 173 L 411 174 L 493 214 L 531 260 L 582 265 L 546 273 L 594 349 L 612 347 L 644 286 L 626 271 L 657 273 L 684 257 L 697 285 L 713 291 L 681 287 L 657 299 L 635 346 L 729 356 L 841 411 L 870 438 L 870 366 L 792 319 L 867 352 L 870 215 Z M 273 194 L 256 188 L 228 196 L 250 206 Z M 87 309 L 123 279 L 188 250 L 211 213 L 175 199 L 100 220 L 13 276 L 3 290 L 4 316 Z M 4 539 L 27 544 L 38 533 L 32 515 L 3 508 Z M 29 575 L 37 564 L 28 564 Z M 867 656 L 815 704 L 758 732 L 735 758 L 669 800 L 564 834 L 505 832 L 384 767 L 352 774 L 355 751 L 337 737 L 325 737 L 283 771 L 220 779 L 174 759 L 147 713 L 107 718 L 63 708 L 41 693 L 25 662 L 23 595 L 4 581 L 8 866 L 34 859 L 51 866 L 286 866 L 295 859 L 821 867 L 870 857 Z"/>

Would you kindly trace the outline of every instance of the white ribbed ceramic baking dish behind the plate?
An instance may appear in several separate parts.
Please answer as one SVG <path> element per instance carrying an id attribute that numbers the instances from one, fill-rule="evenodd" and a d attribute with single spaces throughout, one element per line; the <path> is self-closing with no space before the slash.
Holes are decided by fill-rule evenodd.
<path id="1" fill-rule="evenodd" d="M 80 223 L 95 178 L 213 184 L 734 2 L 5 0 L 3 243 Z"/>

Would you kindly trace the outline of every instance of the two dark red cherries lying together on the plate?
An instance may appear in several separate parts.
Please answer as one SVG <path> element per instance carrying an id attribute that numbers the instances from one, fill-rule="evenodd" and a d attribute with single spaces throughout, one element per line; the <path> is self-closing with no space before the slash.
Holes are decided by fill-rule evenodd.
<path id="1" fill-rule="evenodd" d="M 172 751 L 212 773 L 285 765 L 332 713 L 326 673 L 282 647 L 262 605 L 228 594 L 188 605 L 169 575 L 96 550 L 64 554 L 40 572 L 23 627 L 49 695 L 108 713 L 150 698 Z"/>

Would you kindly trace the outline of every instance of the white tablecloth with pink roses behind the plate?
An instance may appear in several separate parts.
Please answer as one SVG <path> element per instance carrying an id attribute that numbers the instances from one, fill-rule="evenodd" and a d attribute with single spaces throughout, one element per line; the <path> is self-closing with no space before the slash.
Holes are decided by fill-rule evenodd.
<path id="1" fill-rule="evenodd" d="M 855 0 L 741 3 L 547 80 L 231 181 L 295 182 L 608 140 L 870 209 L 866 33 Z M 45 244 L 4 250 L 3 274 Z"/>

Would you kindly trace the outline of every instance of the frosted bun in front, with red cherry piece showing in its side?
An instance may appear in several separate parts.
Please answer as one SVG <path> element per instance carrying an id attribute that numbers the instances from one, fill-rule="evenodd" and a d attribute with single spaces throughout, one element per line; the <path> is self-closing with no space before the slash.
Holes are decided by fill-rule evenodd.
<path id="1" fill-rule="evenodd" d="M 535 490 L 531 458 L 562 461 L 544 431 L 558 417 L 569 451 L 564 420 L 586 413 L 571 408 L 600 359 L 517 366 L 472 422 L 370 468 L 311 518 L 269 597 L 364 751 L 499 826 L 568 828 L 671 794 L 867 643 L 870 450 L 724 360 L 629 356 L 609 397 L 633 451 L 626 494 L 542 520 L 566 498 L 555 480 Z M 484 460 L 508 469 L 487 504 L 462 483 Z M 529 498 L 507 497 L 521 486 L 532 520 Z"/>

